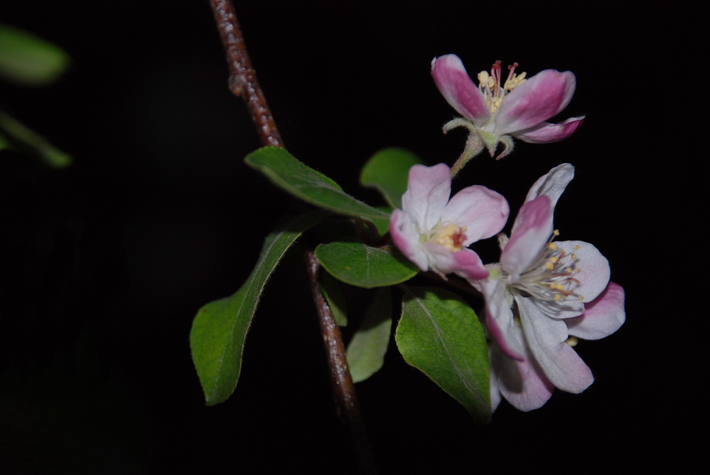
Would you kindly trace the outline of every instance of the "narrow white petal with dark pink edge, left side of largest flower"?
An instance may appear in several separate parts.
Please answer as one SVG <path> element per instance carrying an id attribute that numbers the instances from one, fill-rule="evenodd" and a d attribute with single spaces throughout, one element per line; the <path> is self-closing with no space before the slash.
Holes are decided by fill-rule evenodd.
<path id="1" fill-rule="evenodd" d="M 500 280 L 479 280 L 471 282 L 486 299 L 486 327 L 503 353 L 510 358 L 523 360 L 523 342 L 515 337 L 517 324 L 513 320 L 513 310 L 506 299 L 506 285 Z"/>

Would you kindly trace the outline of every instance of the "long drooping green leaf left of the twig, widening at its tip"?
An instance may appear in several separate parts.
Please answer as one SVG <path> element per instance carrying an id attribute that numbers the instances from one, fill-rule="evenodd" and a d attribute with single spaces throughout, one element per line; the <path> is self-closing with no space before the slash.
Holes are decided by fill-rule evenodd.
<path id="1" fill-rule="evenodd" d="M 303 214 L 266 236 L 244 285 L 231 297 L 209 302 L 197 312 L 190 331 L 190 349 L 207 405 L 222 403 L 234 393 L 244 339 L 266 280 L 293 241 L 326 216 L 322 211 Z"/>

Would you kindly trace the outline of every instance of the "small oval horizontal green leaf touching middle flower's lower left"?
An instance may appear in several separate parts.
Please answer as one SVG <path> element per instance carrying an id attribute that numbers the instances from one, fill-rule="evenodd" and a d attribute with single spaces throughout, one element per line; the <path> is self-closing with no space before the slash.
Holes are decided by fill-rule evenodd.
<path id="1" fill-rule="evenodd" d="M 399 253 L 361 243 L 321 244 L 315 255 L 334 278 L 364 288 L 402 283 L 419 272 L 417 266 Z"/>

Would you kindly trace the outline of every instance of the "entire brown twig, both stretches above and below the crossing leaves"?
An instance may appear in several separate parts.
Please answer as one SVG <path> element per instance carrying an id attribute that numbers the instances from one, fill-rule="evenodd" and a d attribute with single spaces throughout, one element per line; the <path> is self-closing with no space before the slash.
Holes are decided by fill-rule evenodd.
<path id="1" fill-rule="evenodd" d="M 236 21 L 234 6 L 231 0 L 209 0 L 217 21 L 219 34 L 229 63 L 229 87 L 236 96 L 241 96 L 251 112 L 256 128 L 261 136 L 261 142 L 267 145 L 283 147 L 280 133 L 276 128 L 271 111 L 266 105 L 261 87 L 256 80 L 256 72 L 251 67 L 249 55 L 246 53 L 241 28 Z M 331 388 L 335 406 L 340 419 L 348 427 L 351 439 L 358 457 L 360 472 L 375 474 L 377 472 L 370 442 L 367 439 L 365 425 L 360 413 L 355 386 L 350 376 L 348 362 L 345 356 L 345 346 L 340 329 L 335 323 L 333 314 L 320 291 L 318 272 L 320 263 L 313 251 L 305 251 L 306 266 L 310 277 L 310 287 L 318 313 L 318 320 L 323 335 L 330 370 Z"/>

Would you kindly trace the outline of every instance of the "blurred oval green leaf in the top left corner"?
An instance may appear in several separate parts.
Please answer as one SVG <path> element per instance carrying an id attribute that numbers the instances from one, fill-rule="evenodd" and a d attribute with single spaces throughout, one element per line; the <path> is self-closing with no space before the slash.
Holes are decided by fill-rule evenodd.
<path id="1" fill-rule="evenodd" d="M 25 86 L 53 82 L 69 66 L 62 48 L 31 33 L 0 25 L 0 77 Z"/>

